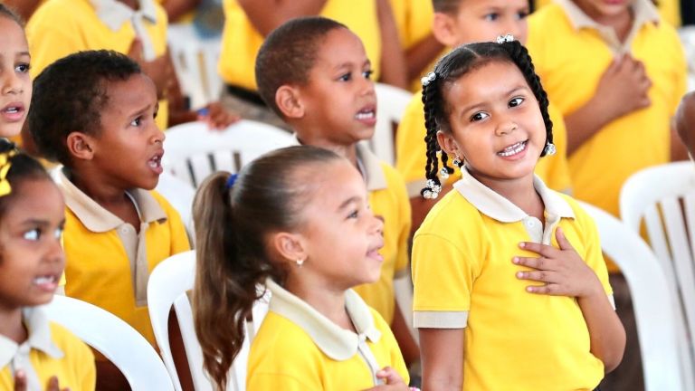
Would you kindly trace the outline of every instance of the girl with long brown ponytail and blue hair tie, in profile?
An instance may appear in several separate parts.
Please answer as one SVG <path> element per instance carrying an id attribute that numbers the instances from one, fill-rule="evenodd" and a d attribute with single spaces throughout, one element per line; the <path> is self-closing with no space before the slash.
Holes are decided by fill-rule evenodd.
<path id="1" fill-rule="evenodd" d="M 195 331 L 216 389 L 263 283 L 270 310 L 252 341 L 247 389 L 407 389 L 386 321 L 350 290 L 378 279 L 384 224 L 347 159 L 276 150 L 238 176 L 206 179 L 193 215 Z"/>

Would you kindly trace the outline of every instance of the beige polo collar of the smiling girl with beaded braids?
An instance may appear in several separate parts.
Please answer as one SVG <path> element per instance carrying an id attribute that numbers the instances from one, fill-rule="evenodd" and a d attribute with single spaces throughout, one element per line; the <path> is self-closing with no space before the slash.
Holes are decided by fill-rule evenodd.
<path id="1" fill-rule="evenodd" d="M 453 187 L 484 215 L 501 223 L 519 222 L 528 216 L 519 206 L 481 184 L 467 169 L 462 169 L 461 174 L 461 179 Z M 575 212 L 566 200 L 548 189 L 538 176 L 533 177 L 533 187 L 546 206 L 547 220 L 556 220 L 557 217 L 575 218 Z"/>

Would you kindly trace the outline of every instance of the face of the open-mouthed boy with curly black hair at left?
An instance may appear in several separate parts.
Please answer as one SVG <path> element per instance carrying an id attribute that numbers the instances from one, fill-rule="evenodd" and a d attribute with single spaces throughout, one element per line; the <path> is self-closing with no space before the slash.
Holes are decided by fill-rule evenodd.
<path id="1" fill-rule="evenodd" d="M 90 140 L 92 162 L 109 185 L 153 189 L 163 172 L 164 132 L 157 128 L 157 91 L 144 74 L 108 83 L 101 132 Z"/>

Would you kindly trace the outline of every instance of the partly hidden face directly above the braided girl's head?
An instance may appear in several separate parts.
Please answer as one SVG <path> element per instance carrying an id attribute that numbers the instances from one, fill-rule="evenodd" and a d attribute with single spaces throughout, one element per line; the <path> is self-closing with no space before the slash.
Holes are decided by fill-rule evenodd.
<path id="1" fill-rule="evenodd" d="M 462 0 L 458 13 L 449 17 L 450 46 L 465 43 L 490 42 L 511 33 L 525 43 L 528 25 L 527 0 Z"/>

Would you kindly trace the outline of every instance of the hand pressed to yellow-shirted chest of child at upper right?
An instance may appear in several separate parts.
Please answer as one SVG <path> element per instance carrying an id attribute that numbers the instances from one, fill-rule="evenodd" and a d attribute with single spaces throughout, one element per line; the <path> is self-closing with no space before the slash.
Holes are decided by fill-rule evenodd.
<path id="1" fill-rule="evenodd" d="M 623 117 L 635 110 L 649 107 L 652 101 L 648 92 L 652 81 L 644 64 L 625 53 L 608 66 L 595 92 L 595 99 L 604 107 L 609 120 Z"/>

